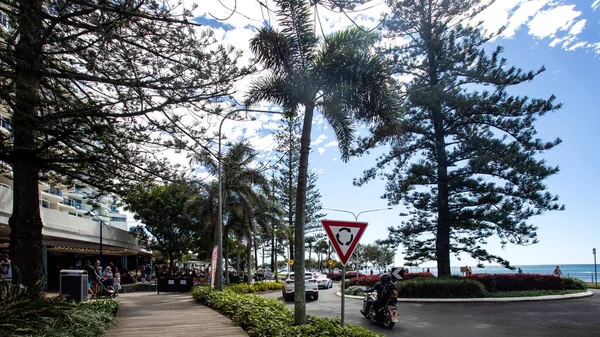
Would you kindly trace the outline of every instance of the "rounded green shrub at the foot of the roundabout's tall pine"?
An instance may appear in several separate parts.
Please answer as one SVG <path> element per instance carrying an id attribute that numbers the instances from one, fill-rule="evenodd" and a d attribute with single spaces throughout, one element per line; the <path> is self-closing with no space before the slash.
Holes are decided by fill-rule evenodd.
<path id="1" fill-rule="evenodd" d="M 404 298 L 478 298 L 485 297 L 481 283 L 452 278 L 416 278 L 398 282 L 398 297 Z"/>

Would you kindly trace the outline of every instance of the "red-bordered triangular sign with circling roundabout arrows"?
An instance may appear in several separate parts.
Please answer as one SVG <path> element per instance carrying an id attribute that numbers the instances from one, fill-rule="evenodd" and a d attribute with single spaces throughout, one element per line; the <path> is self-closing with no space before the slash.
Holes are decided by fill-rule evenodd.
<path id="1" fill-rule="evenodd" d="M 345 266 L 368 223 L 337 220 L 321 220 L 321 223 L 333 244 L 333 248 L 335 248 L 342 264 Z"/>

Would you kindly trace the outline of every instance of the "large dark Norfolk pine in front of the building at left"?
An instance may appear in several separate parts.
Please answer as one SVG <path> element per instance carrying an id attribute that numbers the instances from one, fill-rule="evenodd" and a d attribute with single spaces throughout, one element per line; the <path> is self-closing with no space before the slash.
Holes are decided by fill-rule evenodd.
<path id="1" fill-rule="evenodd" d="M 10 255 L 21 283 L 32 286 L 44 277 L 38 181 L 55 175 L 121 193 L 170 179 L 173 167 L 158 151 L 205 144 L 200 123 L 182 115 L 231 94 L 239 55 L 189 23 L 189 11 L 174 15 L 150 0 L 0 4 L 12 27 L 0 30 L 0 107 L 10 114 L 0 161 L 14 182 Z"/>

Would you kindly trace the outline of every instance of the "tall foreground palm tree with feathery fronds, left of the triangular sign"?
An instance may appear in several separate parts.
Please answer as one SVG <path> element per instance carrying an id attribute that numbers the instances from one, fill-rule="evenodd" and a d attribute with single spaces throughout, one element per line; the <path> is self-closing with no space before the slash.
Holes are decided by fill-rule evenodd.
<path id="1" fill-rule="evenodd" d="M 250 49 L 269 74 L 251 83 L 246 105 L 270 101 L 284 111 L 304 107 L 300 140 L 300 168 L 296 190 L 294 270 L 304 274 L 304 227 L 308 154 L 314 109 L 332 126 L 342 159 L 347 161 L 354 140 L 355 121 L 371 128 L 395 125 L 392 80 L 387 67 L 373 51 L 376 33 L 351 28 L 326 37 L 314 34 L 310 6 L 304 0 L 275 0 L 283 30 L 260 28 Z M 296 278 L 294 321 L 306 323 L 304 278 Z"/>

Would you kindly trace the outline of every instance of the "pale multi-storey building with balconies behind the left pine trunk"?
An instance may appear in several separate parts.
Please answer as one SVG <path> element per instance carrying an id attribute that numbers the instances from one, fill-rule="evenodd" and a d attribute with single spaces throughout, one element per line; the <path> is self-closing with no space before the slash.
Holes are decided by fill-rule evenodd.
<path id="1" fill-rule="evenodd" d="M 103 264 L 113 262 L 126 269 L 148 262 L 151 252 L 139 246 L 127 231 L 127 216 L 118 209 L 118 198 L 94 197 L 84 185 L 60 189 L 40 182 L 40 215 L 43 229 L 44 267 L 47 286 L 57 289 L 61 269 L 81 268 L 85 260 L 100 255 Z M 0 251 L 8 252 L 12 214 L 12 180 L 0 176 Z"/>

